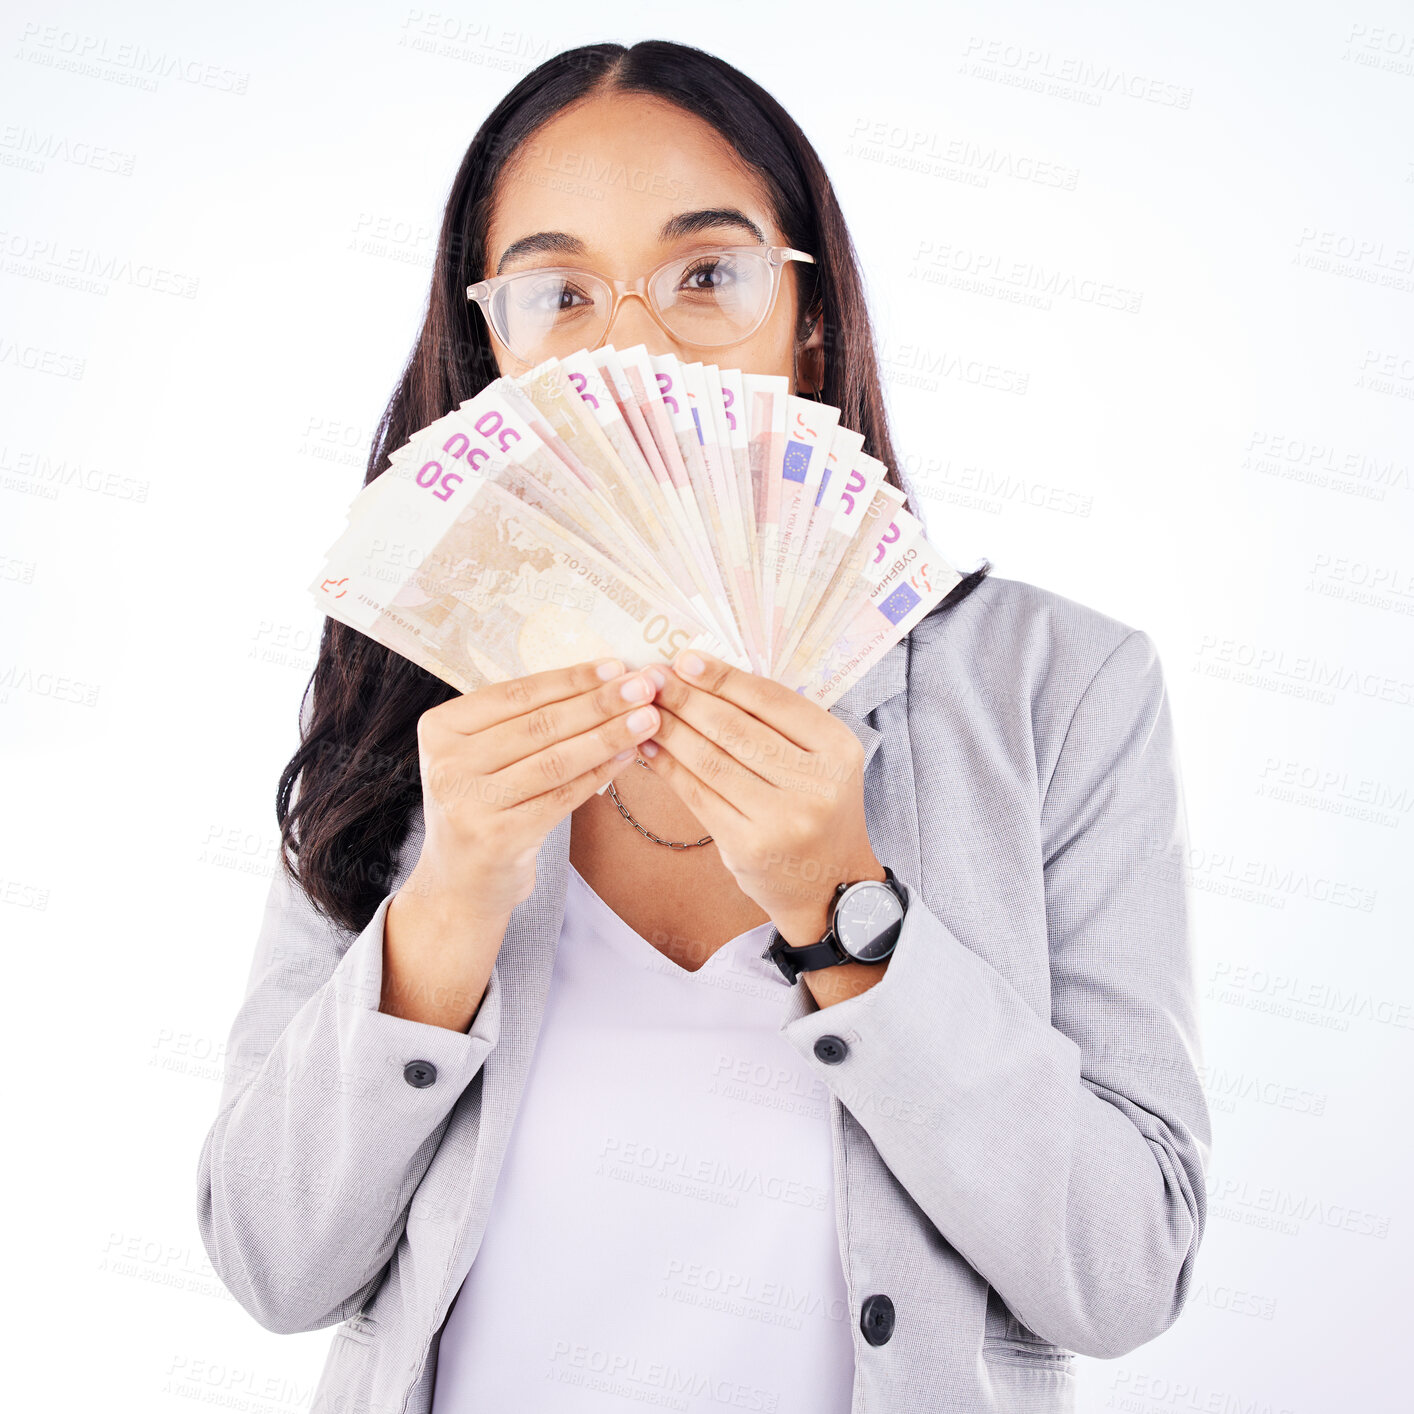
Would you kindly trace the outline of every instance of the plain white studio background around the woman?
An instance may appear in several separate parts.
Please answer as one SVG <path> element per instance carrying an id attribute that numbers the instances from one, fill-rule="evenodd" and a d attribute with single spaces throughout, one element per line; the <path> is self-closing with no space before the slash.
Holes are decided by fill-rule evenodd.
<path id="1" fill-rule="evenodd" d="M 1178 1325 L 1077 1362 L 1082 1407 L 1406 1408 L 1414 11 L 673 13 L 6 7 L 6 1403 L 308 1403 L 329 1332 L 259 1328 L 195 1226 L 305 584 L 485 113 L 561 48 L 677 38 L 822 153 L 943 553 L 1164 660 L 1210 1220 Z"/>

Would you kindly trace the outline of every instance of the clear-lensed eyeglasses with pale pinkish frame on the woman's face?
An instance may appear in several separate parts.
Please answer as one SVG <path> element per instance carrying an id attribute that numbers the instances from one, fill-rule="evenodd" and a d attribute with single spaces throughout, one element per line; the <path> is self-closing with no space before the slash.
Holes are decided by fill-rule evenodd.
<path id="1" fill-rule="evenodd" d="M 725 348 L 765 324 L 788 260 L 814 264 L 790 246 L 711 246 L 666 260 L 636 280 L 551 266 L 498 274 L 467 286 L 496 338 L 523 363 L 598 348 L 625 296 L 646 301 L 674 338 L 697 348 Z"/>

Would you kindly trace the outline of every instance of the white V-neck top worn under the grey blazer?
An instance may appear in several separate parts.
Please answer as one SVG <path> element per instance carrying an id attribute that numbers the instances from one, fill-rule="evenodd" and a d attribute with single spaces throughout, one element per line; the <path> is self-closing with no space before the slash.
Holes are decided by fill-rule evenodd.
<path id="1" fill-rule="evenodd" d="M 769 936 L 686 971 L 570 867 L 436 1414 L 848 1414 L 829 1089 L 781 1035 Z"/>

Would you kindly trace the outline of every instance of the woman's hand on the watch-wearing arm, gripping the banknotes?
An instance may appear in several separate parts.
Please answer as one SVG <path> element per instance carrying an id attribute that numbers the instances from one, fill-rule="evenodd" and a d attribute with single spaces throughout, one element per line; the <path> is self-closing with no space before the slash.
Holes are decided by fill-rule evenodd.
<path id="1" fill-rule="evenodd" d="M 701 672 L 689 672 L 693 659 Z M 864 748 L 817 703 L 687 649 L 653 697 L 653 772 L 792 946 L 817 942 L 841 882 L 884 878 L 864 822 Z"/>

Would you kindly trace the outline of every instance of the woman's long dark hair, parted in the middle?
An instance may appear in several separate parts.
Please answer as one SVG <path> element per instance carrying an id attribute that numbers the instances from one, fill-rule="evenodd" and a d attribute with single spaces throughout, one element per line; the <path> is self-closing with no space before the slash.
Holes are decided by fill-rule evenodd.
<path id="1" fill-rule="evenodd" d="M 906 492 L 894 469 L 854 245 L 819 156 L 790 115 L 745 74 L 701 49 L 660 40 L 557 54 L 516 83 L 481 124 L 447 198 L 427 317 L 375 433 L 365 485 L 382 474 L 390 451 L 498 376 L 481 314 L 465 290 L 484 274 L 502 167 L 559 112 L 615 90 L 666 99 L 710 123 L 765 182 L 785 240 L 816 257 L 814 266 L 795 263 L 790 270 L 799 281 L 797 342 L 814 315 L 824 320 L 820 399 L 840 409 L 843 426 L 864 434 L 864 450 L 885 462 L 888 479 Z M 990 568 L 984 560 L 939 609 L 966 598 Z M 334 619 L 324 624 L 310 687 L 300 747 L 276 797 L 281 867 L 322 913 L 361 932 L 389 892 L 421 800 L 417 718 L 455 689 Z"/>

